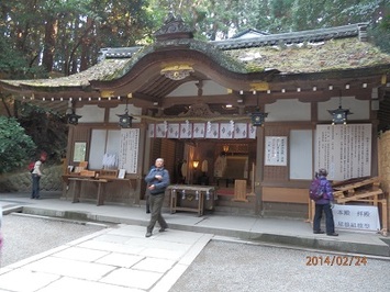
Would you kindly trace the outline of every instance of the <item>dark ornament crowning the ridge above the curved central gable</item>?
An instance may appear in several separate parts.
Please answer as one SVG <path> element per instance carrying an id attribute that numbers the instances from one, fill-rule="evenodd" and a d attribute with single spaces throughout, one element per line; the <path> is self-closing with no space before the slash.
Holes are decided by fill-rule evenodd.
<path id="1" fill-rule="evenodd" d="M 163 26 L 155 32 L 156 41 L 175 38 L 193 38 L 193 30 L 185 23 L 180 15 L 169 12 Z"/>

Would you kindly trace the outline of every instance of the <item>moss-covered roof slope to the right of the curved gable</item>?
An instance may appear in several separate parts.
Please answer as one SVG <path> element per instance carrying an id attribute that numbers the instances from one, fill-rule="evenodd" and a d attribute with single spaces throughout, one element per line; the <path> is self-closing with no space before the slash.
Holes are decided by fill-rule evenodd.
<path id="1" fill-rule="evenodd" d="M 357 37 L 320 43 L 274 45 L 225 50 L 248 70 L 272 68 L 282 74 L 319 72 L 390 65 L 390 55 Z"/>

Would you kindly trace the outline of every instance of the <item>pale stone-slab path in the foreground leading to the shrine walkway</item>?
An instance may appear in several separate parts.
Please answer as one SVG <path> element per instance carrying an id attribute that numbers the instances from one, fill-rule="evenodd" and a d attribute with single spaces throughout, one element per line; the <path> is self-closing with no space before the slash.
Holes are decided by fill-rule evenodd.
<path id="1" fill-rule="evenodd" d="M 0 269 L 0 291 L 169 291 L 211 237 L 119 225 Z"/>

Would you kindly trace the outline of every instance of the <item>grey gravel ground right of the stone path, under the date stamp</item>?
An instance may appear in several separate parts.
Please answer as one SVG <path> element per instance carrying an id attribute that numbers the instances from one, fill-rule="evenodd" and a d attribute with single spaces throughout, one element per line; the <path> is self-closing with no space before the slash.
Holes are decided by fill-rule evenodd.
<path id="1" fill-rule="evenodd" d="M 213 240 L 169 292 L 390 291 L 389 260 L 308 266 L 320 256 L 335 255 Z"/>

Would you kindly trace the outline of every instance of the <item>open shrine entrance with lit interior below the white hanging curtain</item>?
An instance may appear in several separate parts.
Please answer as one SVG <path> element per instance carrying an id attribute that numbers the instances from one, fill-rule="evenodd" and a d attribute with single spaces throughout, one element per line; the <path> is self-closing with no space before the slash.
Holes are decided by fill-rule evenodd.
<path id="1" fill-rule="evenodd" d="M 205 210 L 255 212 L 256 139 L 151 139 L 151 165 L 157 157 L 165 159 L 171 186 L 186 186 L 198 190 L 212 189 L 211 205 L 207 199 Z M 179 191 L 180 191 L 179 190 Z M 188 192 L 188 191 L 187 191 Z M 196 195 L 187 193 L 177 199 L 182 207 L 197 206 Z M 169 199 L 167 199 L 167 204 Z M 180 210 L 175 206 L 174 210 Z M 255 213 L 254 213 L 255 214 Z"/>

